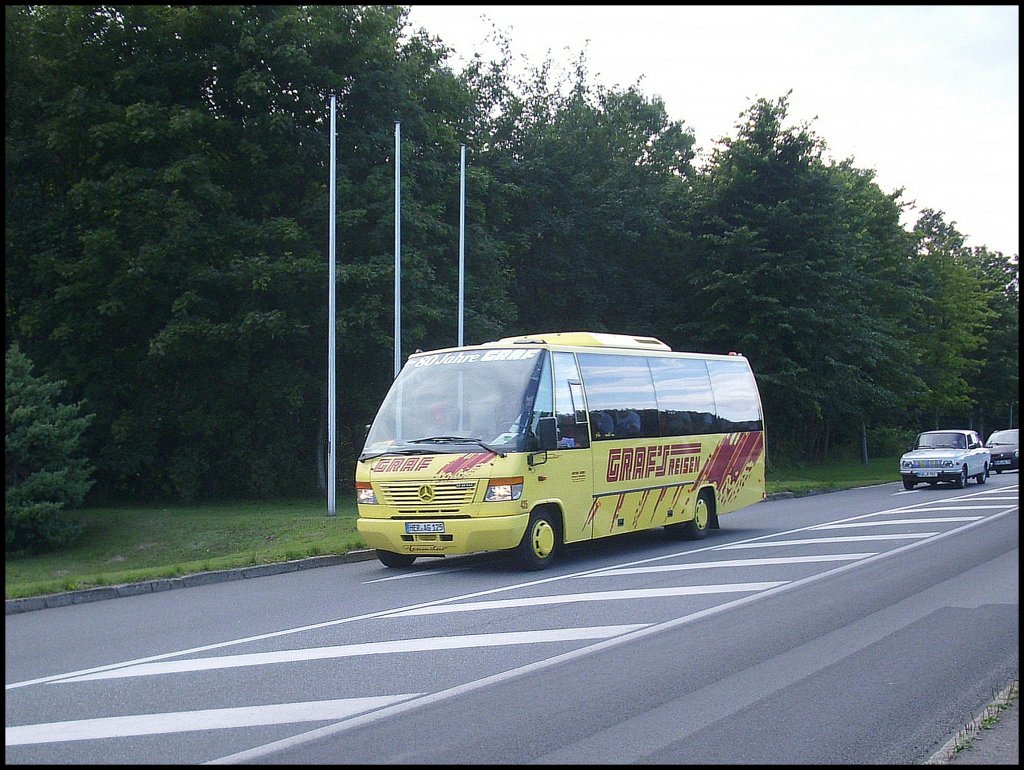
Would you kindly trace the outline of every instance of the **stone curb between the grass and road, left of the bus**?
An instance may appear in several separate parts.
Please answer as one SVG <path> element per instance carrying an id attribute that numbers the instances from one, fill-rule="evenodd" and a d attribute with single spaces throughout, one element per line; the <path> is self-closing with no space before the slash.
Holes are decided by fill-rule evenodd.
<path id="1" fill-rule="evenodd" d="M 141 581 L 139 583 L 124 583 L 118 586 L 99 586 L 97 588 L 87 588 L 81 591 L 66 591 L 59 594 L 47 594 L 46 596 L 30 596 L 24 599 L 5 599 L 4 614 L 17 614 L 19 612 L 31 612 L 36 609 L 47 609 L 49 607 L 67 607 L 72 604 L 87 604 L 105 599 L 120 599 L 122 596 L 138 596 L 139 594 L 155 594 L 158 591 L 172 591 L 177 588 L 191 588 L 193 586 L 210 586 L 214 583 L 225 583 L 227 581 L 240 581 L 247 578 L 262 578 L 267 574 L 281 574 L 283 572 L 297 572 L 300 569 L 314 569 L 315 567 L 330 567 L 335 564 L 348 564 L 354 561 L 369 561 L 377 558 L 377 552 L 368 549 L 360 551 L 349 551 L 345 554 L 333 556 L 313 556 L 308 559 L 294 559 L 292 561 L 282 561 L 275 564 L 254 564 L 248 567 L 238 567 L 234 569 L 214 569 L 209 572 L 197 572 L 186 574 L 181 578 L 158 578 L 152 581 Z"/>

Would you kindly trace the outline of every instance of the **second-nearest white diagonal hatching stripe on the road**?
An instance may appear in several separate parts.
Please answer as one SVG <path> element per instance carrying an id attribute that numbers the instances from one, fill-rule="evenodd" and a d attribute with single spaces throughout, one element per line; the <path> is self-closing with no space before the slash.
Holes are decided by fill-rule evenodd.
<path id="1" fill-rule="evenodd" d="M 581 640 L 607 639 L 618 634 L 642 629 L 646 624 L 630 626 L 594 626 L 579 629 L 551 629 L 543 631 L 517 631 L 505 634 L 467 634 L 463 636 L 436 636 L 422 639 L 397 639 L 393 641 L 365 642 L 362 644 L 339 644 L 331 647 L 310 649 L 276 650 L 274 652 L 252 652 L 242 655 L 220 655 L 200 657 L 190 660 L 166 660 L 159 664 L 142 664 L 125 669 L 115 669 L 96 674 L 86 674 L 65 682 L 89 682 L 96 679 L 122 679 L 125 677 L 148 677 L 158 674 L 181 674 L 195 671 L 237 669 L 245 666 L 267 666 L 269 664 L 291 664 L 305 660 L 324 660 L 357 655 L 389 655 L 396 652 L 430 652 L 467 648 L 500 647 L 513 644 L 541 644 L 546 642 L 574 642 Z"/>

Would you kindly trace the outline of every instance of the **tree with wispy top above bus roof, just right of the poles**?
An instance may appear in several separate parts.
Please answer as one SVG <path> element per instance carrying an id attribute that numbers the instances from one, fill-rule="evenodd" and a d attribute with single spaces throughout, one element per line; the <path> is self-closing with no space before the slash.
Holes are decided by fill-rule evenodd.
<path id="1" fill-rule="evenodd" d="M 504 213 L 517 307 L 511 331 L 664 335 L 650 308 L 677 301 L 666 270 L 680 259 L 679 212 L 693 135 L 636 87 L 588 83 L 550 59 L 513 79 L 509 57 L 471 82 L 480 93 L 481 162 Z"/>

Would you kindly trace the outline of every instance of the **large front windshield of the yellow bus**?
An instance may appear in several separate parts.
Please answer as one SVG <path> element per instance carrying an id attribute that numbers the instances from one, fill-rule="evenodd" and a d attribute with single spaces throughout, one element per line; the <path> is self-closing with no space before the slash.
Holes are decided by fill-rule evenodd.
<path id="1" fill-rule="evenodd" d="M 522 452 L 546 351 L 414 355 L 374 419 L 360 460 L 384 454 Z"/>

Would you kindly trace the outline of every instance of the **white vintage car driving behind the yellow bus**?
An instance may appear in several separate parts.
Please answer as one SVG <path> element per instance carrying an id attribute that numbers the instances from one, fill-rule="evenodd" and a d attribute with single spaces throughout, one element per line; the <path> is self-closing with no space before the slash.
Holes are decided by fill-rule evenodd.
<path id="1" fill-rule="evenodd" d="M 939 481 L 963 489 L 969 478 L 985 483 L 991 466 L 992 457 L 975 431 L 929 430 L 919 433 L 913 448 L 900 458 L 899 474 L 906 489 Z"/>

